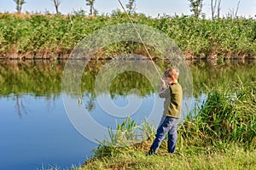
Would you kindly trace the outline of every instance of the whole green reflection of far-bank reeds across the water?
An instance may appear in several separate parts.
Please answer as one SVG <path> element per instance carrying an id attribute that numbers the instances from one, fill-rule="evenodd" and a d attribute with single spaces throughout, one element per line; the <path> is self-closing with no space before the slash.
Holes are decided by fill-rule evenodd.
<path id="1" fill-rule="evenodd" d="M 83 94 L 88 94 L 84 96 L 90 98 L 85 104 L 88 110 L 95 108 L 96 77 L 106 63 L 106 60 L 92 60 L 84 68 L 81 91 Z M 164 60 L 156 60 L 155 63 L 163 71 L 172 65 Z M 193 77 L 193 95 L 195 97 L 206 93 L 206 86 L 216 86 L 216 82 L 238 81 L 238 78 L 234 75 L 238 75 L 242 82 L 256 81 L 256 62 L 253 60 L 210 60 L 203 62 L 187 60 L 187 64 Z M 20 116 L 21 113 L 27 111 L 23 97 L 26 94 L 36 97 L 44 96 L 48 101 L 61 95 L 61 77 L 64 66 L 65 61 L 62 60 L 1 60 L 0 96 L 9 97 L 14 95 L 15 107 Z M 184 83 L 186 83 L 186 80 L 184 80 Z M 101 86 L 104 86 L 104 84 Z M 115 95 L 125 96 L 132 88 L 137 88 L 143 96 L 153 93 L 148 79 L 132 71 L 123 72 L 115 77 L 111 83 L 110 92 L 106 93 L 111 94 L 112 98 Z"/>

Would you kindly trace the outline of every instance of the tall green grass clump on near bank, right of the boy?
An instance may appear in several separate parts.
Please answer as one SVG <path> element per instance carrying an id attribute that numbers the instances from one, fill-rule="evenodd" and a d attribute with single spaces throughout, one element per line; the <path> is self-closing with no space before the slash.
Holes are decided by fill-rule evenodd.
<path id="1" fill-rule="evenodd" d="M 255 87 L 255 82 L 230 82 L 210 89 L 201 107 L 183 123 L 183 145 L 226 150 L 237 144 L 255 149 Z"/>

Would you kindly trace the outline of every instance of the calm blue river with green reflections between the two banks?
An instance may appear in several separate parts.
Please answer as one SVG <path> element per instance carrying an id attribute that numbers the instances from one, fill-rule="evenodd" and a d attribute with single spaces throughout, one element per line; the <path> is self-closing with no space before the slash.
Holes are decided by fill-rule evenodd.
<path id="1" fill-rule="evenodd" d="M 143 62 L 143 66 L 135 68 L 144 68 L 147 74 L 150 69 L 147 61 Z M 65 64 L 65 60 L 0 60 L 0 169 L 78 167 L 93 155 L 97 147 L 93 138 L 101 139 L 102 134 L 85 126 L 90 124 L 89 120 L 84 120 L 83 126 L 90 133 L 83 132 L 79 121 L 74 121 L 79 116 L 72 117 L 77 111 L 68 109 L 65 99 L 73 99 L 76 102 L 73 105 L 105 130 L 114 128 L 126 116 L 141 122 L 145 117 L 161 113 L 162 100 L 152 85 L 159 83 L 159 77 L 152 77 L 157 81 L 150 82 L 139 71 L 125 67 L 125 71 L 113 73 L 117 67 L 103 70 L 107 61 L 91 61 L 82 71 L 80 94 L 68 98 L 62 80 L 67 69 Z M 156 64 L 160 71 L 170 66 L 161 61 Z M 187 72 L 180 80 L 184 114 L 201 105 L 207 98 L 207 87 L 216 86 L 216 82 L 256 81 L 254 60 L 196 60 L 185 61 L 185 65 Z M 111 79 L 109 86 L 104 78 Z"/>

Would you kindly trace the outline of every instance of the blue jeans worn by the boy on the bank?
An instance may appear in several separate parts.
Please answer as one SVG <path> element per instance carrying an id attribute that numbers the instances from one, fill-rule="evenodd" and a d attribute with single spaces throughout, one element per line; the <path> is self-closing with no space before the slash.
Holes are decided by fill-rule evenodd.
<path id="1" fill-rule="evenodd" d="M 160 144 L 168 133 L 168 152 L 173 153 L 176 147 L 177 142 L 177 118 L 170 116 L 162 116 L 159 127 L 155 134 L 155 139 L 153 144 L 150 147 L 150 150 L 157 152 L 160 147 Z"/>

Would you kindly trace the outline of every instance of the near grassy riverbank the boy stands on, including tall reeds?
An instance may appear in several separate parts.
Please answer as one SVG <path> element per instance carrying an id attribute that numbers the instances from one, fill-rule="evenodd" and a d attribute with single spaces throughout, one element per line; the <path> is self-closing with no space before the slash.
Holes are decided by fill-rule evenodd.
<path id="1" fill-rule="evenodd" d="M 164 142 L 158 155 L 146 156 L 154 139 L 151 132 L 148 140 L 132 146 L 102 142 L 80 169 L 255 169 L 255 87 L 255 82 L 230 82 L 210 88 L 201 107 L 180 126 L 175 154 L 166 154 Z"/>

